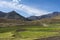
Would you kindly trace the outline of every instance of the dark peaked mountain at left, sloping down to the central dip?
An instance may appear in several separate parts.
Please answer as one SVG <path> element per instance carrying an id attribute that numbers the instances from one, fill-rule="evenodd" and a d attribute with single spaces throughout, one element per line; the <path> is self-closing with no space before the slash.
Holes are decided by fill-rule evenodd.
<path id="1" fill-rule="evenodd" d="M 0 11 L 0 19 L 28 20 L 27 18 L 23 17 L 22 15 L 18 14 L 15 11 L 11 11 L 8 13 L 4 13 Z"/>

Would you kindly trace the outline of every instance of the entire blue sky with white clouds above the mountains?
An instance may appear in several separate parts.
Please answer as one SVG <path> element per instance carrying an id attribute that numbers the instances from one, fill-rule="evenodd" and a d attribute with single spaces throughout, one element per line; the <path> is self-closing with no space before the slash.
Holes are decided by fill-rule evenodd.
<path id="1" fill-rule="evenodd" d="M 0 11 L 16 11 L 24 17 L 60 12 L 60 0 L 0 0 Z"/>

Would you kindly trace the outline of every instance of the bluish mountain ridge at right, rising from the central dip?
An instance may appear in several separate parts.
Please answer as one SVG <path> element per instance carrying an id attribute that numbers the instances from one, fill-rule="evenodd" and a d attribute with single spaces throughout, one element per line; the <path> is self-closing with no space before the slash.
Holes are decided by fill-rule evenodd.
<path id="1" fill-rule="evenodd" d="M 28 17 L 28 19 L 30 19 L 30 20 L 40 20 L 40 19 L 44 19 L 44 18 L 53 18 L 53 17 L 56 17 L 56 16 L 60 16 L 60 12 L 53 12 L 53 13 L 42 15 L 42 16 L 31 16 L 31 17 Z"/>

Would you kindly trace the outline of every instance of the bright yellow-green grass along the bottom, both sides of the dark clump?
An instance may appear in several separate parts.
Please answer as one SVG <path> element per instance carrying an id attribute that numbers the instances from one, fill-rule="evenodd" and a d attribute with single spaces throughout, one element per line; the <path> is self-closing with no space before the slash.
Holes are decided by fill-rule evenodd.
<path id="1" fill-rule="evenodd" d="M 58 34 L 59 34 L 59 32 L 24 31 L 24 32 L 14 33 L 15 36 L 12 39 L 13 34 L 11 32 L 7 32 L 7 33 L 1 33 L 0 38 L 2 38 L 2 40 L 28 40 L 28 39 L 33 40 L 36 38 L 45 38 L 45 37 L 50 37 L 50 36 L 56 36 Z"/>

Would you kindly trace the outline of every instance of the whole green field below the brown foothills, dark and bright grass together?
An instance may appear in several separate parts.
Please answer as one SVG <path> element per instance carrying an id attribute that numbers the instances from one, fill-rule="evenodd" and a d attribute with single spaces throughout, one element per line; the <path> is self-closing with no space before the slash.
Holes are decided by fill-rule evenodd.
<path id="1" fill-rule="evenodd" d="M 0 40 L 34 40 L 60 36 L 60 25 L 0 27 Z"/>

